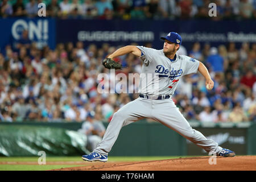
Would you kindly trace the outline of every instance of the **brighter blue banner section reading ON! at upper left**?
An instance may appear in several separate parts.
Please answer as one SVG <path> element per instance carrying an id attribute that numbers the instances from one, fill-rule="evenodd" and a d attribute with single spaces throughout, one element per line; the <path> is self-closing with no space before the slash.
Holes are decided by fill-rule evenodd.
<path id="1" fill-rule="evenodd" d="M 28 41 L 36 42 L 38 48 L 48 45 L 55 48 L 55 19 L 48 18 L 7 18 L 0 19 L 0 48 L 15 44 L 22 40 L 22 33 L 27 30 Z"/>

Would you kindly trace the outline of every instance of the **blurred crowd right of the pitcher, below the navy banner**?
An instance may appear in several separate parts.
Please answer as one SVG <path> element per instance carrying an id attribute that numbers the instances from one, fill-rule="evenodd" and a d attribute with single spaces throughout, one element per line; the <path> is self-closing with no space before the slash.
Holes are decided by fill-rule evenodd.
<path id="1" fill-rule="evenodd" d="M 201 122 L 256 121 L 256 43 L 211 47 L 196 42 L 188 56 L 206 65 L 214 88 L 207 90 L 200 74 L 184 77 L 174 100 L 185 118 Z"/>

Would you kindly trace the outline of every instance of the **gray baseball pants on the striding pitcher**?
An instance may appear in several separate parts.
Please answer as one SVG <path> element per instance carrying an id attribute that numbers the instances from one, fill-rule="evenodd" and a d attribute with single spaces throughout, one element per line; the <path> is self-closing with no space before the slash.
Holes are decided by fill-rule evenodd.
<path id="1" fill-rule="evenodd" d="M 94 151 L 108 155 L 121 128 L 142 118 L 152 118 L 162 123 L 210 154 L 215 152 L 218 154 L 222 149 L 218 143 L 205 138 L 199 131 L 192 129 L 171 98 L 165 100 L 137 98 L 114 113 L 102 141 Z"/>

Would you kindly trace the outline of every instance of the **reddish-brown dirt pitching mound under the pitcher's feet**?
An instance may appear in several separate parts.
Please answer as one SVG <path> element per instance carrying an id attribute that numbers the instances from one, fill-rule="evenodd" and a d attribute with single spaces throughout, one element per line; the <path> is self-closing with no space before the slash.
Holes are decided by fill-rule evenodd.
<path id="1" fill-rule="evenodd" d="M 84 162 L 85 166 L 53 171 L 256 171 L 256 156 L 200 156 L 141 162 Z"/>

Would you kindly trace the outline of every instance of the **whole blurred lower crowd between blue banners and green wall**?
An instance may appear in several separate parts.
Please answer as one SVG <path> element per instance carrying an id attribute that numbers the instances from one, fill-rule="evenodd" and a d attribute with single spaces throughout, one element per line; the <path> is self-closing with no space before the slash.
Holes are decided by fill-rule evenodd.
<path id="1" fill-rule="evenodd" d="M 85 47 L 82 42 L 69 42 L 57 44 L 56 49 L 38 49 L 26 38 L 24 30 L 19 42 L 0 52 L 1 121 L 83 122 L 93 111 L 94 120 L 110 122 L 115 111 L 138 98 L 138 82 L 134 80 L 128 83 L 132 87 L 127 86 L 133 93 L 98 92 L 102 82 L 98 74 L 110 74 L 101 61 L 119 47 L 107 43 Z M 191 49 L 182 46 L 178 53 L 202 61 L 214 81 L 209 91 L 200 74 L 180 80 L 172 99 L 185 118 L 201 122 L 256 121 L 256 43 L 237 46 L 230 42 L 212 47 L 196 42 Z M 116 73 L 141 72 L 142 61 L 132 54 L 115 61 L 126 67 Z"/>

